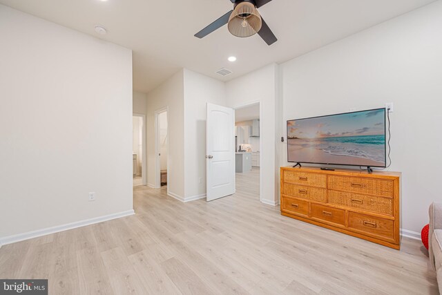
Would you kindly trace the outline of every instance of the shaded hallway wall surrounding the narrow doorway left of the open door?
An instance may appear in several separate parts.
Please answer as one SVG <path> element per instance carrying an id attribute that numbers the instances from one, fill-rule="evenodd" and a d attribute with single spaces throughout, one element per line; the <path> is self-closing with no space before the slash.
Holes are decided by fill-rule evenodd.
<path id="1" fill-rule="evenodd" d="M 147 185 L 155 187 L 155 112 L 168 108 L 168 193 L 184 200 L 184 70 L 147 94 L 146 104 Z"/>

